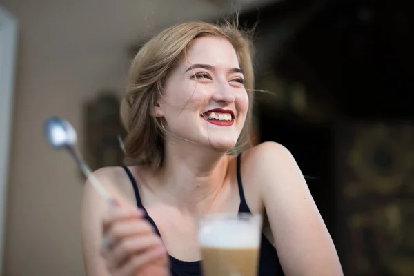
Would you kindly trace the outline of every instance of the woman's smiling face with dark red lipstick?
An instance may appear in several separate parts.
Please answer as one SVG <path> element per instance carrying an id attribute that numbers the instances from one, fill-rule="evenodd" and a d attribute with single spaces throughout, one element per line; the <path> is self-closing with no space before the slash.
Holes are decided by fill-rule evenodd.
<path id="1" fill-rule="evenodd" d="M 168 77 L 159 103 L 172 137 L 220 151 L 233 148 L 246 121 L 248 96 L 231 43 L 195 39 Z"/>

